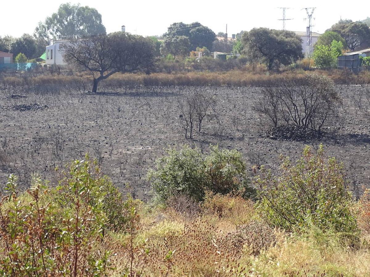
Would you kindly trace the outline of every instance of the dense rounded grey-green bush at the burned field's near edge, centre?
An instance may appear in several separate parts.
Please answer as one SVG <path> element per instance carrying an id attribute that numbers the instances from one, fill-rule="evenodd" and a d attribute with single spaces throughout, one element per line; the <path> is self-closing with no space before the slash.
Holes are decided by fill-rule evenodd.
<path id="1" fill-rule="evenodd" d="M 156 161 L 156 170 L 149 171 L 148 179 L 159 202 L 179 195 L 202 201 L 206 191 L 253 195 L 241 154 L 236 150 L 220 151 L 218 146 L 211 146 L 209 155 L 189 146 L 170 148 L 166 156 Z"/>

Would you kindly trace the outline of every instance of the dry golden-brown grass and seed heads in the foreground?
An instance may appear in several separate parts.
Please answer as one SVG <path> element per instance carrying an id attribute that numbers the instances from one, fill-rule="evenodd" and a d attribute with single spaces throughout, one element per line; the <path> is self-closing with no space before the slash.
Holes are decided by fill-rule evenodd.
<path id="1" fill-rule="evenodd" d="M 129 238 L 111 233 L 105 239 L 105 249 L 117 253 L 113 276 L 128 272 Z M 306 235 L 272 229 L 251 202 L 208 195 L 195 217 L 173 208 L 141 213 L 133 276 L 370 276 L 369 250 L 316 229 Z"/>

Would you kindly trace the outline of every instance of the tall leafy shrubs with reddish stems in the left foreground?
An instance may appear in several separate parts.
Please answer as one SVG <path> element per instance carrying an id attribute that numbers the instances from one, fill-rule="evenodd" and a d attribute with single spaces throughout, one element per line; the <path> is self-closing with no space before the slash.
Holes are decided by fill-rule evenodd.
<path id="1" fill-rule="evenodd" d="M 109 252 L 95 253 L 106 216 L 100 190 L 88 161 L 76 160 L 60 182 L 66 206 L 39 178 L 19 195 L 10 175 L 0 206 L 1 268 L 4 276 L 94 276 L 110 269 Z M 58 192 L 57 192 L 58 193 Z"/>

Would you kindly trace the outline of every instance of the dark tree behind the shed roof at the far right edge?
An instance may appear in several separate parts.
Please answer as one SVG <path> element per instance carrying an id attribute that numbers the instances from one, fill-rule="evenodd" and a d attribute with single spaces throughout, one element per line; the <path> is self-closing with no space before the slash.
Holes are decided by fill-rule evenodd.
<path id="1" fill-rule="evenodd" d="M 340 20 L 329 31 L 340 34 L 351 51 L 358 47 L 367 47 L 370 43 L 369 26 L 360 21 Z"/>

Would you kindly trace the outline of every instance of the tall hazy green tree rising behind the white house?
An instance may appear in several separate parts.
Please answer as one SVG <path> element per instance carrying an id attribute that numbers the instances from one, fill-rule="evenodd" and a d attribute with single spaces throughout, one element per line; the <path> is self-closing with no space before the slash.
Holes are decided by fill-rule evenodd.
<path id="1" fill-rule="evenodd" d="M 76 35 L 105 34 L 101 14 L 95 8 L 80 4 L 61 4 L 56 13 L 39 22 L 34 35 L 48 40 Z"/>

